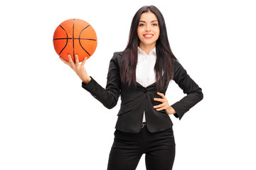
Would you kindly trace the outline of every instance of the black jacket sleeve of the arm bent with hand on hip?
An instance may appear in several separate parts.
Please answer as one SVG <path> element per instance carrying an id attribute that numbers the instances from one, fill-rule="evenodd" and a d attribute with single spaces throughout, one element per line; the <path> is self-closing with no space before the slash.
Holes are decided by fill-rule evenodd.
<path id="1" fill-rule="evenodd" d="M 181 118 L 189 111 L 190 108 L 196 105 L 203 99 L 202 89 L 196 84 L 191 77 L 187 74 L 182 65 L 175 60 L 174 63 L 174 81 L 183 90 L 184 94 L 187 94 L 180 101 L 174 103 L 171 107 L 174 108 L 176 118 Z"/>

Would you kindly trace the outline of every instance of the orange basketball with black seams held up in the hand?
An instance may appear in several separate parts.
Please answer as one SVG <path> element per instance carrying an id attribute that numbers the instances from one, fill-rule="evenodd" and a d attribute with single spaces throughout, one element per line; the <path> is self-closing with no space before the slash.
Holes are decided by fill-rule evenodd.
<path id="1" fill-rule="evenodd" d="M 97 35 L 89 23 L 80 19 L 69 19 L 60 23 L 53 34 L 53 45 L 57 54 L 68 61 L 68 55 L 75 62 L 90 58 L 97 47 Z"/>

